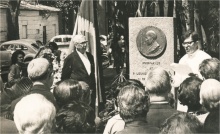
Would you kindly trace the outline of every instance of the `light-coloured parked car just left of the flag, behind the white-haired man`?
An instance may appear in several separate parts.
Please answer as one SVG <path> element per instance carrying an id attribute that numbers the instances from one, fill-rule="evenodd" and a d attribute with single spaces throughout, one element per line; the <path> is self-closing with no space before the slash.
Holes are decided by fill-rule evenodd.
<path id="1" fill-rule="evenodd" d="M 72 39 L 72 35 L 57 35 L 51 38 L 50 42 L 56 42 L 59 50 L 67 51 L 71 39 Z"/>

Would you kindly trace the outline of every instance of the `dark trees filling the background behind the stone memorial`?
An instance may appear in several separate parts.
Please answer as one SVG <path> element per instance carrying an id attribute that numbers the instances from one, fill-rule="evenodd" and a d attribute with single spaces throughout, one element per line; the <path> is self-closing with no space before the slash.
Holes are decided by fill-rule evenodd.
<path id="1" fill-rule="evenodd" d="M 199 48 L 218 58 L 219 10 L 219 2 L 213 0 L 111 0 L 107 11 L 108 31 L 113 32 L 113 40 L 116 42 L 121 34 L 128 37 L 129 17 L 174 17 L 178 58 L 185 54 L 180 44 L 183 42 L 182 35 L 187 30 L 197 31 L 201 44 Z"/>

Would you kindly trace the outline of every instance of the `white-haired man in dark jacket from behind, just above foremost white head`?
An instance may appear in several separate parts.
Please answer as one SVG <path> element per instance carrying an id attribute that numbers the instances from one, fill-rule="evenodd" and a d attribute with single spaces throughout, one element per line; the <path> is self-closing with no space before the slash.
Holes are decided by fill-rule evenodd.
<path id="1" fill-rule="evenodd" d="M 53 67 L 45 58 L 33 59 L 27 68 L 28 77 L 33 82 L 33 87 L 29 94 L 38 93 L 47 98 L 50 102 L 57 107 L 57 103 L 50 92 L 50 87 L 53 84 Z M 22 98 L 22 97 L 21 97 Z M 15 105 L 21 98 L 18 98 L 12 102 L 11 111 L 14 110 Z"/>

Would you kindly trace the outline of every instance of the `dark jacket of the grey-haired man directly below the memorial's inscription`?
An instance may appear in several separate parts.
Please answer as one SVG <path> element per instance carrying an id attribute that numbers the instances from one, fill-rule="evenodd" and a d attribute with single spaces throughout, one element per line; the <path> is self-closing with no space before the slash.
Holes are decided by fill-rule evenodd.
<path id="1" fill-rule="evenodd" d="M 151 104 L 146 120 L 148 124 L 160 128 L 161 123 L 176 112 L 178 111 L 173 109 L 168 103 Z"/>

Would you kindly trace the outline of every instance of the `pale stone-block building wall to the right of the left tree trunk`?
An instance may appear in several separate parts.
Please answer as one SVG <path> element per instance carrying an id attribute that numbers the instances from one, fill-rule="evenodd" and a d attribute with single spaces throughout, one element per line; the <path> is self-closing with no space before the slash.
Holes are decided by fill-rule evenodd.
<path id="1" fill-rule="evenodd" d="M 46 26 L 46 41 L 59 34 L 58 12 L 50 12 L 48 18 L 39 11 L 21 10 L 19 15 L 20 38 L 37 39 L 43 42 L 43 27 Z"/>

